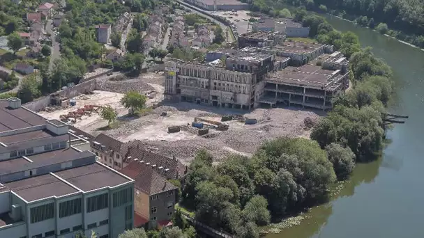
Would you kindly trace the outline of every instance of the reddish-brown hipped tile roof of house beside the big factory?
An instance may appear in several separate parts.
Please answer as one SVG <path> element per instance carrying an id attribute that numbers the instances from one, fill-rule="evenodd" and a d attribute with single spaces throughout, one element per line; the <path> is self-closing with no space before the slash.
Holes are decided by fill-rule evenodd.
<path id="1" fill-rule="evenodd" d="M 153 164 L 146 164 L 139 160 L 131 161 L 120 172 L 134 180 L 134 187 L 150 195 L 177 189 L 152 168 Z"/>

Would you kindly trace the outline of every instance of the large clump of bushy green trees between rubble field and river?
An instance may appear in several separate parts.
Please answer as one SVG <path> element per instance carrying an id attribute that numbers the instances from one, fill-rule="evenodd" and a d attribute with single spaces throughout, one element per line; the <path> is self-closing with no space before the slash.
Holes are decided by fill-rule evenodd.
<path id="1" fill-rule="evenodd" d="M 182 203 L 195 209 L 197 220 L 241 237 L 257 237 L 257 225 L 326 200 L 335 181 L 326 152 L 305 138 L 269 141 L 252 158 L 232 155 L 218 166 L 212 161 L 206 151 L 197 153 Z"/>

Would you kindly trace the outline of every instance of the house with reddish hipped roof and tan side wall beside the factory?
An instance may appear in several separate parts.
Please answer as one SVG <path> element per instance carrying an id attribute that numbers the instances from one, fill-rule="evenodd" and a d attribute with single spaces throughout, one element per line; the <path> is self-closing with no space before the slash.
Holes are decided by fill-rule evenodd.
<path id="1" fill-rule="evenodd" d="M 135 158 L 120 171 L 135 181 L 135 227 L 151 229 L 172 225 L 178 188 L 159 175 L 157 169 L 157 166 Z"/>

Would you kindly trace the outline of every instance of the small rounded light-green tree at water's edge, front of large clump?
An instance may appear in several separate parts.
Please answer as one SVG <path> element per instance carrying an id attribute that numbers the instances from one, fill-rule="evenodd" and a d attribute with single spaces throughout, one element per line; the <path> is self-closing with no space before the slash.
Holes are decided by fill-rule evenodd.
<path id="1" fill-rule="evenodd" d="M 254 196 L 243 209 L 243 219 L 252 221 L 257 225 L 268 225 L 271 215 L 268 211 L 268 201 L 263 196 Z"/>

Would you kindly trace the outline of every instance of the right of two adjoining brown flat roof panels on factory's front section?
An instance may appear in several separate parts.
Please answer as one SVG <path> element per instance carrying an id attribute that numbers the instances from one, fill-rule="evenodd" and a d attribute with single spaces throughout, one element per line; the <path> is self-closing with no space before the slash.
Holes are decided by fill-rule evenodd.
<path id="1" fill-rule="evenodd" d="M 119 184 L 129 182 L 126 177 L 100 165 L 98 162 L 82 167 L 70 168 L 54 173 L 75 185 L 82 191 L 91 191 L 103 187 L 115 187 Z"/>

